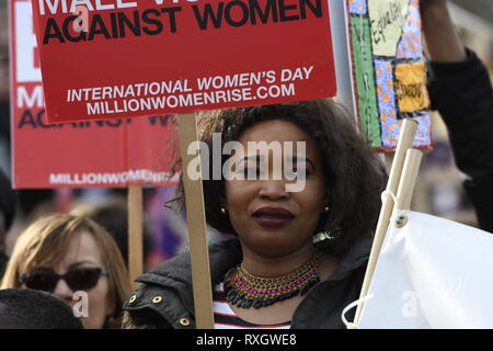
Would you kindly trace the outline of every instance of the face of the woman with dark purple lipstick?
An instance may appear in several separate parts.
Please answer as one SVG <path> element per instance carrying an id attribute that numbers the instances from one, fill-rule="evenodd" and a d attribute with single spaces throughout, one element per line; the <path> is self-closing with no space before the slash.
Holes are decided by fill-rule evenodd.
<path id="1" fill-rule="evenodd" d="M 272 150 L 268 151 L 267 180 L 257 177 L 255 180 L 225 181 L 225 207 L 243 247 L 257 254 L 282 257 L 311 245 L 313 231 L 326 206 L 322 160 L 316 143 L 305 131 L 282 120 L 255 124 L 238 141 L 245 150 L 244 158 L 241 156 L 245 161 L 238 163 L 236 172 L 245 174 L 259 172 L 259 156 L 266 157 L 254 149 L 254 154 L 249 154 L 249 141 L 306 143 L 305 155 L 297 155 L 296 146 L 283 149 L 280 155 L 283 162 L 293 158 L 298 170 L 306 170 L 305 186 L 299 192 L 287 192 L 286 178 L 275 180 L 273 177 Z M 289 149 L 294 152 L 284 152 Z"/>

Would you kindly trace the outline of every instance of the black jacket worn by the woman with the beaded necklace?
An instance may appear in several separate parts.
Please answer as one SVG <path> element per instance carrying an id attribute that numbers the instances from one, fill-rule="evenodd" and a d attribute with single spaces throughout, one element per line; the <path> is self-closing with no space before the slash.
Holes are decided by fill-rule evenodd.
<path id="1" fill-rule="evenodd" d="M 371 239 L 356 241 L 341 258 L 340 265 L 326 280 L 319 282 L 296 309 L 291 328 L 345 328 L 341 314 L 345 306 L 359 298 L 363 278 L 371 248 Z M 238 240 L 228 240 L 209 248 L 213 284 L 242 259 Z M 126 328 L 195 328 L 190 256 L 177 256 L 140 275 L 142 285 L 125 304 Z M 134 297 L 135 296 L 135 297 Z M 354 310 L 346 316 L 349 320 Z"/>

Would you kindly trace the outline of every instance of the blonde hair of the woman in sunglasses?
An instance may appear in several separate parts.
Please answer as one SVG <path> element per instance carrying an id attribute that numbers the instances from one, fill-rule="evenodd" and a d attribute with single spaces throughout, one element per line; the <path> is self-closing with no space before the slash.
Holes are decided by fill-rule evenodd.
<path id="1" fill-rule="evenodd" d="M 55 265 L 60 262 L 72 238 L 81 231 L 89 231 L 101 248 L 103 264 L 110 270 L 113 317 L 119 319 L 122 306 L 131 292 L 127 269 L 113 237 L 87 217 L 53 214 L 43 216 L 28 226 L 15 242 L 0 288 L 19 288 L 22 274 L 41 264 Z"/>

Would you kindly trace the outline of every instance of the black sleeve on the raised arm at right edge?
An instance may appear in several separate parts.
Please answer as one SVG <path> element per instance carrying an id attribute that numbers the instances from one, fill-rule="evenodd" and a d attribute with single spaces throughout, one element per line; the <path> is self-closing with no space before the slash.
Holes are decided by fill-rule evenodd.
<path id="1" fill-rule="evenodd" d="M 432 105 L 447 125 L 457 167 L 481 229 L 493 231 L 493 90 L 486 67 L 467 50 L 458 64 L 429 64 Z"/>

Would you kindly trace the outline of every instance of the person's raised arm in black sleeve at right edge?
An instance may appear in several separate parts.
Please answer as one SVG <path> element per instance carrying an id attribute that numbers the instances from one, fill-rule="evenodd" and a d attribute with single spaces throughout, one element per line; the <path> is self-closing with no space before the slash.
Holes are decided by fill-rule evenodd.
<path id="1" fill-rule="evenodd" d="M 481 229 L 493 233 L 493 89 L 486 67 L 460 41 L 447 0 L 422 0 L 432 107 L 444 118 Z"/>

